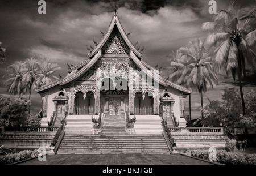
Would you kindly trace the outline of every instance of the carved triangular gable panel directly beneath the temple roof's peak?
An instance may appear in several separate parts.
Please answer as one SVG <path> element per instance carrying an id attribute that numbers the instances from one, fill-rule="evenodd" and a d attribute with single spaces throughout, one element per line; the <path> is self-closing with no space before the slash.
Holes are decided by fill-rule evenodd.
<path id="1" fill-rule="evenodd" d="M 128 49 L 118 29 L 115 27 L 102 49 L 104 54 L 128 54 Z"/>

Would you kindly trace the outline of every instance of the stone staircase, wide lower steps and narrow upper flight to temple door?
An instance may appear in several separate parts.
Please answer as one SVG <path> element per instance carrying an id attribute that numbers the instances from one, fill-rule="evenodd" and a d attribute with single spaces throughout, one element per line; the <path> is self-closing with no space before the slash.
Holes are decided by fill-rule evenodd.
<path id="1" fill-rule="evenodd" d="M 129 153 L 170 154 L 170 151 L 162 134 L 126 134 L 125 115 L 106 115 L 101 134 L 66 134 L 57 152 L 57 154 Z"/>

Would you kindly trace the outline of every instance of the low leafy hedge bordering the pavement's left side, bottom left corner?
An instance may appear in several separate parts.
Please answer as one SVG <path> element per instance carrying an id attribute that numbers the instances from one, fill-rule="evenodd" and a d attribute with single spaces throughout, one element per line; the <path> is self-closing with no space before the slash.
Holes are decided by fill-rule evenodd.
<path id="1" fill-rule="evenodd" d="M 22 160 L 26 160 L 28 158 L 36 157 L 38 156 L 39 152 L 38 150 L 30 151 L 30 150 L 24 150 L 20 151 L 18 153 L 9 153 L 4 156 L 0 156 L 0 164 L 11 164 L 13 162 L 18 162 Z"/>

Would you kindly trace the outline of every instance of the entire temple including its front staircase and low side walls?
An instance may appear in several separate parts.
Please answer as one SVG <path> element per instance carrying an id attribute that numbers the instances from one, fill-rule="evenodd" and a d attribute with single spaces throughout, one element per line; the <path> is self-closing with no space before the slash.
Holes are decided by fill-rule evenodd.
<path id="1" fill-rule="evenodd" d="M 102 33 L 102 32 L 101 32 Z M 36 92 L 40 127 L 0 129 L 7 148 L 47 148 L 47 154 L 174 154 L 224 149 L 223 127 L 186 127 L 188 89 L 164 79 L 142 59 L 114 12 L 102 40 L 67 76 Z M 163 123 L 164 122 L 164 123 Z"/>

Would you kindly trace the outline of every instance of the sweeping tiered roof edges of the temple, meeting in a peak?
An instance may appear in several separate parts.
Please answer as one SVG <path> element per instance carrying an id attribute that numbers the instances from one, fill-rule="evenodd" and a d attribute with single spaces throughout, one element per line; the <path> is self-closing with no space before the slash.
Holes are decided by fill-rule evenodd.
<path id="1" fill-rule="evenodd" d="M 70 81 L 76 80 L 77 78 L 85 74 L 85 72 L 88 71 L 89 68 L 92 67 L 100 57 L 102 57 L 102 51 L 104 51 L 104 46 L 106 46 L 105 45 L 106 42 L 110 40 L 112 33 L 115 32 L 114 30 L 118 30 L 119 35 L 121 35 L 122 40 L 125 42 L 125 45 L 129 49 L 129 52 L 127 53 L 129 55 L 127 56 L 129 56 L 141 70 L 156 70 L 154 67 L 151 67 L 146 62 L 142 61 L 142 54 L 140 53 L 140 51 L 138 51 L 135 48 L 135 46 L 131 43 L 131 41 L 127 37 L 127 34 L 125 33 L 118 19 L 118 14 L 117 12 L 115 12 L 110 22 L 108 31 L 106 32 L 102 40 L 98 44 L 96 44 L 93 50 L 89 51 L 88 53 L 89 59 L 80 63 L 75 67 L 70 67 L 68 69 L 69 74 L 65 76 L 65 78 L 63 78 L 62 80 L 57 80 L 57 81 L 54 81 L 52 84 L 44 85 L 43 87 L 36 89 L 36 92 L 44 91 L 58 84 L 59 85 L 68 84 Z M 154 72 L 152 76 L 154 76 Z M 159 84 L 163 85 L 164 87 L 168 87 L 168 86 L 173 87 L 184 93 L 191 93 L 191 91 L 189 91 L 187 88 L 174 84 L 171 81 L 164 79 L 160 75 L 159 75 Z"/>

